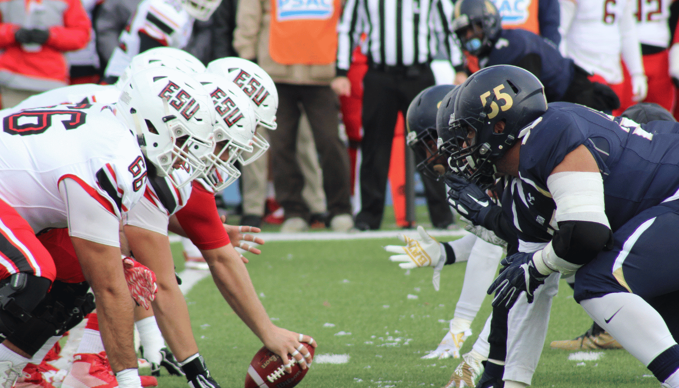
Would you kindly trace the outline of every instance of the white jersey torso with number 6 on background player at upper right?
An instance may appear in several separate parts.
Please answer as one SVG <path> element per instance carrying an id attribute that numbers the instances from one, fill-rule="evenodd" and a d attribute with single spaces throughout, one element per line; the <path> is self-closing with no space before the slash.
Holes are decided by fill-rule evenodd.
<path id="1" fill-rule="evenodd" d="M 629 0 L 578 0 L 575 16 L 562 39 L 565 56 L 572 58 L 589 73 L 604 77 L 606 82 L 622 82 L 620 65 L 620 20 Z"/>

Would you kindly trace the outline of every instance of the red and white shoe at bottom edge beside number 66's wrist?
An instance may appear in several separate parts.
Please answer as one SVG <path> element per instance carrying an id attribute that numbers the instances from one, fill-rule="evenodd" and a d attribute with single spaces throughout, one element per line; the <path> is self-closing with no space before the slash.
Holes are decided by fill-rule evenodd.
<path id="1" fill-rule="evenodd" d="M 62 388 L 115 388 L 118 386 L 105 352 L 78 353 L 73 357 L 73 366 L 64 379 Z M 158 386 L 158 380 L 153 376 L 139 377 L 142 387 Z"/>

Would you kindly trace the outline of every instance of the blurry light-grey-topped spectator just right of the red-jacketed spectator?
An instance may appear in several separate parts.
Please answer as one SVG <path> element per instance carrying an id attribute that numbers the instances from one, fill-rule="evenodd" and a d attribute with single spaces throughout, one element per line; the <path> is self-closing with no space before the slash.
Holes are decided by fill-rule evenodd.
<path id="1" fill-rule="evenodd" d="M 103 0 L 81 0 L 82 5 L 94 20 L 96 10 Z M 96 33 L 94 27 L 90 28 L 90 41 L 87 46 L 77 51 L 67 52 L 66 61 L 70 65 L 71 85 L 73 84 L 96 84 L 101 77 L 100 60 L 96 53 Z"/>

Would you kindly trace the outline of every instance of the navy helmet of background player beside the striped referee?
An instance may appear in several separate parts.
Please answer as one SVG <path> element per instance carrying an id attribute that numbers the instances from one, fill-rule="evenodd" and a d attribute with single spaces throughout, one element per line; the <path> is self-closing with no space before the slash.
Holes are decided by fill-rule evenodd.
<path id="1" fill-rule="evenodd" d="M 502 31 L 502 17 L 490 0 L 458 0 L 451 29 L 462 48 L 474 56 L 488 54 Z M 472 36 L 467 36 L 471 29 Z"/>

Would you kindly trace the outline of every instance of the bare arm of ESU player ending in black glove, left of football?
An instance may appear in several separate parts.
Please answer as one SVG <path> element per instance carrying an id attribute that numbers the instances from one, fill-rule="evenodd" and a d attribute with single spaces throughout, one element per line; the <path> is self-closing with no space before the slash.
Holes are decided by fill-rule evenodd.
<path id="1" fill-rule="evenodd" d="M 124 230 L 134 258 L 155 272 L 158 294 L 153 313 L 170 350 L 180 361 L 198 353 L 189 311 L 177 286 L 168 236 L 131 225 Z"/>

